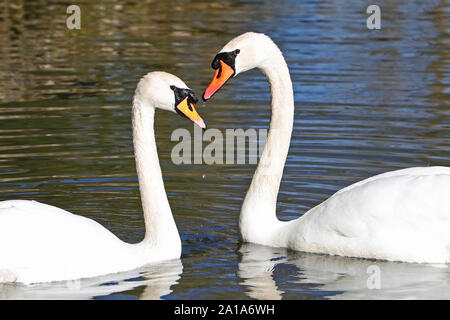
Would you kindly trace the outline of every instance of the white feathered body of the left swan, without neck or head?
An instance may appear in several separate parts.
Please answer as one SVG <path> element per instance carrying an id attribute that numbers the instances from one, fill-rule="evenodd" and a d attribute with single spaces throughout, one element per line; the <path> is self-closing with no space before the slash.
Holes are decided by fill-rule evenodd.
<path id="1" fill-rule="evenodd" d="M 138 250 L 94 220 L 35 201 L 0 202 L 0 282 L 125 271 L 143 262 Z"/>

